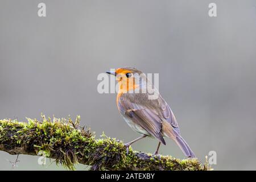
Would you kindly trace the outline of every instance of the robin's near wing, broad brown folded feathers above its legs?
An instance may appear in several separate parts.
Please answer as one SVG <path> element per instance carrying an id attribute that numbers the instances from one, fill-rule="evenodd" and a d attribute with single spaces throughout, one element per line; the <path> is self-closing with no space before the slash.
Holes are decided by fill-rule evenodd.
<path id="1" fill-rule="evenodd" d="M 162 119 L 159 115 L 151 108 L 135 104 L 130 100 L 121 101 L 122 112 L 131 118 L 133 122 L 141 126 L 144 130 L 150 133 L 155 138 L 159 139 L 160 142 L 166 144 L 162 137 Z"/>

